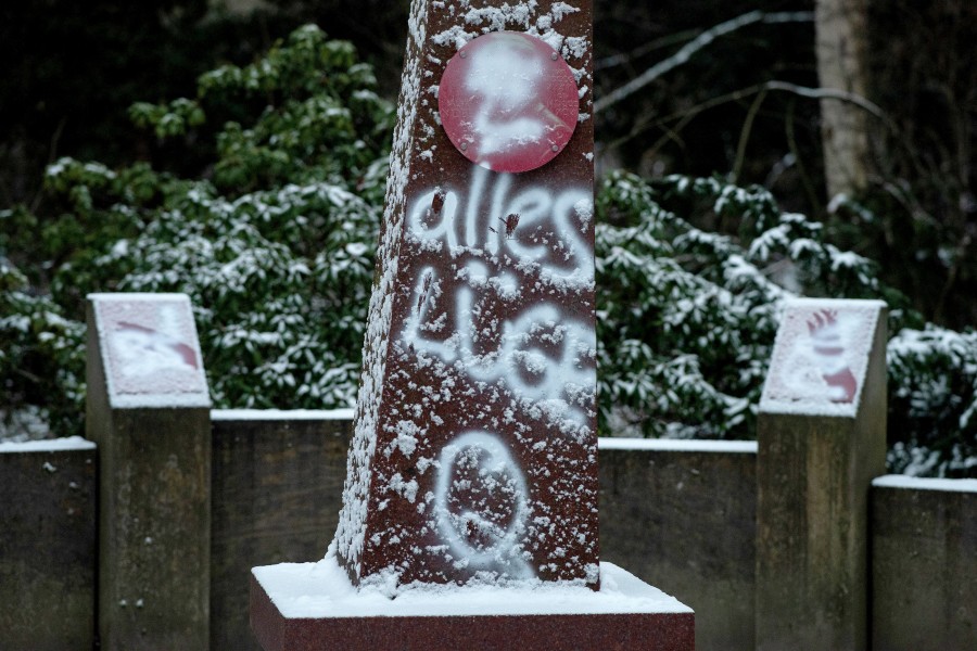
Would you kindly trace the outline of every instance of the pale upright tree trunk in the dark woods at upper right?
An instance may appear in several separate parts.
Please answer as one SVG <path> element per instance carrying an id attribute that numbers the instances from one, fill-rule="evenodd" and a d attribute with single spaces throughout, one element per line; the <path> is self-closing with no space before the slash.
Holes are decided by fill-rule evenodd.
<path id="1" fill-rule="evenodd" d="M 817 76 L 822 88 L 865 97 L 867 0 L 816 0 Z M 868 117 L 838 99 L 821 100 L 828 197 L 865 188 L 868 177 Z"/>

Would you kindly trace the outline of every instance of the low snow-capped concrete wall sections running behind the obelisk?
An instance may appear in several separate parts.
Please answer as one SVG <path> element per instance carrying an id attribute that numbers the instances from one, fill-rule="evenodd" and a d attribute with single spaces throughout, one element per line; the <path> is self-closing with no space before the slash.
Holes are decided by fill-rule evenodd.
<path id="1" fill-rule="evenodd" d="M 257 650 L 250 569 L 325 552 L 352 413 L 212 413 L 211 572 L 199 577 L 211 648 Z M 0 599 L 16 604 L 0 611 L 0 649 L 91 646 L 98 450 L 47 445 L 0 447 L 0 576 L 13 577 Z M 602 438 L 599 449 L 601 559 L 694 608 L 697 649 L 753 648 L 756 443 Z M 872 512 L 873 648 L 968 648 L 977 482 L 880 477 Z"/>

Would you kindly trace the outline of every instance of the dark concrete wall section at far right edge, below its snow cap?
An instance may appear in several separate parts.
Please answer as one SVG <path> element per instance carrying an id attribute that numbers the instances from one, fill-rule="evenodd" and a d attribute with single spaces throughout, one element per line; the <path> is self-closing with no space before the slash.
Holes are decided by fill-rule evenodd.
<path id="1" fill-rule="evenodd" d="M 977 647 L 977 492 L 872 489 L 872 648 Z"/>

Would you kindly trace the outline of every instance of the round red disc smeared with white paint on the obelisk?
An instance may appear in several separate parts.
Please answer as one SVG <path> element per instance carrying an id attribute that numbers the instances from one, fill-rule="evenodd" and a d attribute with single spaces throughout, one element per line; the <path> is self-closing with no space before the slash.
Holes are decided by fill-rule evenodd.
<path id="1" fill-rule="evenodd" d="M 570 66 L 546 42 L 493 31 L 448 61 L 437 108 L 444 130 L 466 158 L 496 171 L 528 171 L 567 145 L 580 98 Z"/>

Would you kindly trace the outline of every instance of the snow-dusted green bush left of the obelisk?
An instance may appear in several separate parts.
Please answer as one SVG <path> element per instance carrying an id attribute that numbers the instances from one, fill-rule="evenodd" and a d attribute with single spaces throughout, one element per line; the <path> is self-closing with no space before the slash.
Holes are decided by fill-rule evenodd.
<path id="1" fill-rule="evenodd" d="M 161 141 L 212 113 L 237 119 L 216 132 L 204 178 L 71 158 L 48 168 L 64 217 L 49 229 L 58 242 L 35 248 L 61 259 L 47 296 L 0 269 L 0 411 L 59 404 L 54 429 L 77 432 L 91 291 L 189 294 L 217 406 L 351 404 L 393 106 L 350 43 L 307 26 L 253 65 L 203 75 L 196 99 L 130 110 Z M 0 218 L 23 234 L 34 219 Z M 29 246 L 0 239 L 0 252 Z"/>

